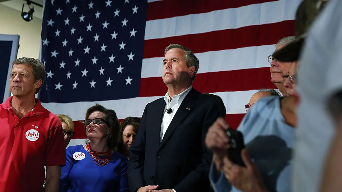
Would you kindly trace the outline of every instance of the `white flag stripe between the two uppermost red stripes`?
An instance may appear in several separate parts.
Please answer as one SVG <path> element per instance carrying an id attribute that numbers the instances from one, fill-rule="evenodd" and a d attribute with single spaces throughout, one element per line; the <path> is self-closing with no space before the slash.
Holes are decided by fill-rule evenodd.
<path id="1" fill-rule="evenodd" d="M 146 22 L 145 40 L 292 20 L 300 2 L 280 0 L 208 13 L 149 20 Z"/>

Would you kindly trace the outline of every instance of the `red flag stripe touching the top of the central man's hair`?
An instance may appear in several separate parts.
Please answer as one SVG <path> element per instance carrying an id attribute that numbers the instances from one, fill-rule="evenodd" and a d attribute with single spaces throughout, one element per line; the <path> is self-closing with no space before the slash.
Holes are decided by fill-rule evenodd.
<path id="1" fill-rule="evenodd" d="M 165 47 L 181 44 L 194 53 L 237 49 L 240 47 L 276 44 L 279 39 L 294 35 L 294 20 L 190 34 L 162 39 L 145 40 L 143 58 L 163 57 Z M 160 50 L 160 51 L 156 51 Z"/>

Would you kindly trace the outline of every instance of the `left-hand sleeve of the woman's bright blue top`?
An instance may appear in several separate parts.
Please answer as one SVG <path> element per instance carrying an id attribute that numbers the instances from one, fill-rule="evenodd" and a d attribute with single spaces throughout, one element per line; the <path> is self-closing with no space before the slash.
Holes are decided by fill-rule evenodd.
<path id="1" fill-rule="evenodd" d="M 60 192 L 67 192 L 69 190 L 69 173 L 73 168 L 73 147 L 66 149 L 66 163 L 65 166 L 61 167 L 61 179 L 60 179 Z"/>

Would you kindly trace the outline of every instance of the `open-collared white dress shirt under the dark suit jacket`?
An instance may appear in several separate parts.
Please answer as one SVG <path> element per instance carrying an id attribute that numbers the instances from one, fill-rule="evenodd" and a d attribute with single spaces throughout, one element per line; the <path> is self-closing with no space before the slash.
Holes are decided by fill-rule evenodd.
<path id="1" fill-rule="evenodd" d="M 164 96 L 164 100 L 166 102 L 163 120 L 161 122 L 161 128 L 160 128 L 160 142 L 163 140 L 163 137 L 166 133 L 166 130 L 168 129 L 174 115 L 176 114 L 179 106 L 182 104 L 185 96 L 190 92 L 192 86 L 187 88 L 185 91 L 178 95 L 174 95 L 172 99 L 170 99 L 169 93 L 166 93 Z M 172 109 L 172 112 L 168 114 L 166 111 L 168 109 Z"/>

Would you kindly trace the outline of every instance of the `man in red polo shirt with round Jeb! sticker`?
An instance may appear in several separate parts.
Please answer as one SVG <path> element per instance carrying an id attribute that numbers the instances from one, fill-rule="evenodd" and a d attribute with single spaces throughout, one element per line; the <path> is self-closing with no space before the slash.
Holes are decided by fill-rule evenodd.
<path id="1" fill-rule="evenodd" d="M 61 165 L 65 165 L 61 121 L 43 108 L 38 93 L 46 72 L 33 58 L 13 62 L 9 97 L 0 105 L 0 191 L 57 192 Z"/>

